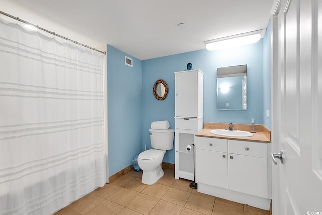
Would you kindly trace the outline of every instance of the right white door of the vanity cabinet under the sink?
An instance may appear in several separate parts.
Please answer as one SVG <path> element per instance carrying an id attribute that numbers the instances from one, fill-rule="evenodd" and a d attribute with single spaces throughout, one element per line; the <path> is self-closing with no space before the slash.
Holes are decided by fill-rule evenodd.
<path id="1" fill-rule="evenodd" d="M 228 154 L 228 189 L 267 198 L 267 159 Z"/>

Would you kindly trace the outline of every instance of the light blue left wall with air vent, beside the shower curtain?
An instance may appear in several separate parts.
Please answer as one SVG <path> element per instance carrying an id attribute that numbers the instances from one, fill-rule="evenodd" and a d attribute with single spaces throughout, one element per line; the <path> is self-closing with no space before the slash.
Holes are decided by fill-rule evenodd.
<path id="1" fill-rule="evenodd" d="M 109 176 L 142 151 L 142 61 L 107 45 Z M 124 64 L 133 59 L 133 67 Z"/>

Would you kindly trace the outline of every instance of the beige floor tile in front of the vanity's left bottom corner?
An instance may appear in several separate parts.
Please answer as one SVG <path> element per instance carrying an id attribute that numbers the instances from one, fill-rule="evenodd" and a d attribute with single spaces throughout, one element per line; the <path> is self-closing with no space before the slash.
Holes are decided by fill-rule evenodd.
<path id="1" fill-rule="evenodd" d="M 214 202 L 215 199 L 213 198 L 191 193 L 185 207 L 203 214 L 211 215 Z"/>

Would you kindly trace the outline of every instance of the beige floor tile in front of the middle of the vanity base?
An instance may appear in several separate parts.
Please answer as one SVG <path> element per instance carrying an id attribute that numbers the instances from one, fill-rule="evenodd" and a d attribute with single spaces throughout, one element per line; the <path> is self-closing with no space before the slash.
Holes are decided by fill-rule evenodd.
<path id="1" fill-rule="evenodd" d="M 212 215 L 244 215 L 243 204 L 216 198 Z"/>

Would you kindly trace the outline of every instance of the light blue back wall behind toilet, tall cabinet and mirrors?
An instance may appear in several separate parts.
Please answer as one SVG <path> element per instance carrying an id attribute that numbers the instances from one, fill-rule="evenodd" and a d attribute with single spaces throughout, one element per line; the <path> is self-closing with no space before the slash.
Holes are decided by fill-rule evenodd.
<path id="1" fill-rule="evenodd" d="M 148 129 L 151 122 L 168 120 L 174 128 L 174 72 L 186 69 L 188 62 L 193 69 L 204 73 L 204 122 L 250 123 L 255 118 L 256 124 L 263 124 L 263 40 L 224 50 L 207 51 L 206 49 L 142 61 L 142 150 L 151 148 Z M 218 111 L 216 102 L 217 67 L 247 64 L 247 110 Z M 153 95 L 153 85 L 163 79 L 169 87 L 168 97 L 159 101 Z M 167 151 L 164 162 L 174 163 L 174 149 Z"/>

